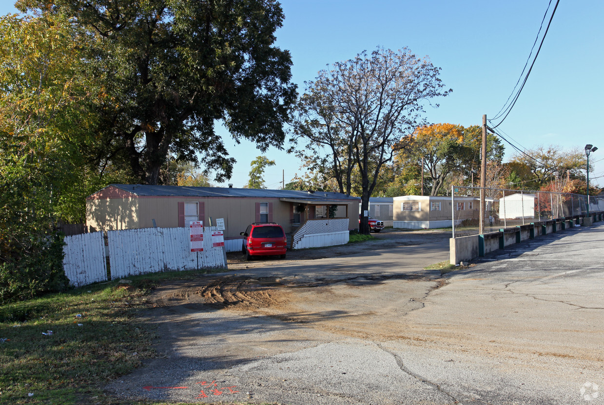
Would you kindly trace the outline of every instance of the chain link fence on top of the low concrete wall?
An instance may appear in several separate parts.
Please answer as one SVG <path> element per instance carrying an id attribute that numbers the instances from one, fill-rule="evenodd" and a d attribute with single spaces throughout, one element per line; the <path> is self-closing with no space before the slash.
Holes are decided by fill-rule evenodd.
<path id="1" fill-rule="evenodd" d="M 452 186 L 453 237 L 481 233 L 481 191 L 484 192 L 482 233 L 588 213 L 586 195 Z M 590 196 L 589 201 L 589 212 L 604 211 L 604 199 Z"/>

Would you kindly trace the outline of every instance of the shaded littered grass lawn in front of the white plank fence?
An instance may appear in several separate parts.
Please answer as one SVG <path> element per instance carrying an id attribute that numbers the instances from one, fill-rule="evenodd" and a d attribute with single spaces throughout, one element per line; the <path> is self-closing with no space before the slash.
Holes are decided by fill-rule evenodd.
<path id="1" fill-rule="evenodd" d="M 197 275 L 141 275 L 0 306 L 0 404 L 159 405 L 118 400 L 102 387 L 156 355 L 155 331 L 140 317 L 150 289 Z"/>

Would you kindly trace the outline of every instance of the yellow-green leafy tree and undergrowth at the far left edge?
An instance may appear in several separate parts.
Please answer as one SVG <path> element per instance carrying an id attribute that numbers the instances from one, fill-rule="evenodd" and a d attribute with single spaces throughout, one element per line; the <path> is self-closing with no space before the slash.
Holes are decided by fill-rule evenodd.
<path id="1" fill-rule="evenodd" d="M 76 37 L 60 17 L 0 17 L 0 302 L 65 287 L 53 227 L 82 218 L 94 137 Z"/>

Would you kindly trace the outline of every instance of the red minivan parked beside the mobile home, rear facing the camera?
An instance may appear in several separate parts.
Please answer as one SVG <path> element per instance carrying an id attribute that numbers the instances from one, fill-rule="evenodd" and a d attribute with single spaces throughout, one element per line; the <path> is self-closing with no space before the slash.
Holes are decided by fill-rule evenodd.
<path id="1" fill-rule="evenodd" d="M 245 232 L 241 233 L 243 245 L 241 253 L 250 260 L 252 256 L 280 255 L 285 259 L 288 248 L 288 239 L 285 237 L 283 227 L 275 222 L 254 222 Z"/>

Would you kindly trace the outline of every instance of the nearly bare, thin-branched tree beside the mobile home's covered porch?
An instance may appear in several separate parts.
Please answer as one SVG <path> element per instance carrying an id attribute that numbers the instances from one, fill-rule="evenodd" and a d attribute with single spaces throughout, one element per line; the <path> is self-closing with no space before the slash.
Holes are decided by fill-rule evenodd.
<path id="1" fill-rule="evenodd" d="M 426 103 L 448 94 L 439 74 L 428 58 L 406 48 L 377 48 L 334 63 L 307 83 L 295 124 L 298 149 L 330 168 L 340 192 L 350 193 L 358 168 L 361 210 L 367 210 L 382 166 L 405 147 L 400 139 L 423 122 Z M 366 220 L 360 231 L 369 233 Z"/>

